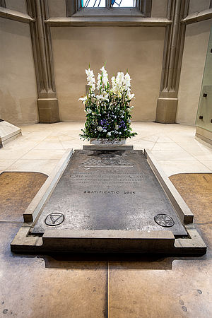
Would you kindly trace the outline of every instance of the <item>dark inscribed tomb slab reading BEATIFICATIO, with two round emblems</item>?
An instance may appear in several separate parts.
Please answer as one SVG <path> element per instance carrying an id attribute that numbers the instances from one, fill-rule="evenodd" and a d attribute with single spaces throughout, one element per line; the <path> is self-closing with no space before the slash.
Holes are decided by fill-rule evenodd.
<path id="1" fill-rule="evenodd" d="M 167 221 L 159 216 L 156 223 L 158 214 L 166 214 Z M 135 150 L 75 151 L 31 232 L 56 228 L 187 235 L 142 151 Z"/>

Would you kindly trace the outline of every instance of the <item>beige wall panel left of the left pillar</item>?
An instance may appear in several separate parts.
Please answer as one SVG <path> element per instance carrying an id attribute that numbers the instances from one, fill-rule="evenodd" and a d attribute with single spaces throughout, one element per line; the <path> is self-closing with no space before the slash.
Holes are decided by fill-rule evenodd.
<path id="1" fill-rule="evenodd" d="M 37 89 L 28 24 L 0 18 L 0 118 L 37 122 Z"/>

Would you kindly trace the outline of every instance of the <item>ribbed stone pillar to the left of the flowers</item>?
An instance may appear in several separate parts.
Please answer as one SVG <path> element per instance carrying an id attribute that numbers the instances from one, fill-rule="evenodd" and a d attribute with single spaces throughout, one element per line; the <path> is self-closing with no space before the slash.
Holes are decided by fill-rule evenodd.
<path id="1" fill-rule="evenodd" d="M 54 66 L 52 58 L 52 41 L 49 25 L 47 0 L 27 0 L 28 14 L 35 18 L 30 23 L 30 31 L 35 61 L 37 80 L 37 107 L 40 123 L 59 122 L 59 107 L 54 81 Z"/>

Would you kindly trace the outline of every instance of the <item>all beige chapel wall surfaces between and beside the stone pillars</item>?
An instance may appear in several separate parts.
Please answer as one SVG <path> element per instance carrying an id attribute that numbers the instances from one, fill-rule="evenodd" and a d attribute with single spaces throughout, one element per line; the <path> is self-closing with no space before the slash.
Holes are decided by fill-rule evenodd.
<path id="1" fill-rule="evenodd" d="M 167 0 L 152 1 L 152 16 L 165 18 Z M 50 0 L 50 16 L 66 16 L 66 0 Z M 189 1 L 189 14 L 209 8 L 210 0 Z M 6 8 L 26 13 L 25 0 L 6 0 Z M 39 121 L 30 25 L 0 18 L 0 118 L 13 124 Z M 194 124 L 211 20 L 187 25 L 179 82 L 177 123 Z M 85 69 L 97 74 L 106 64 L 110 77 L 132 78 L 133 119 L 154 121 L 163 68 L 164 27 L 51 27 L 54 74 L 61 120 L 83 120 L 78 98 L 85 92 Z"/>

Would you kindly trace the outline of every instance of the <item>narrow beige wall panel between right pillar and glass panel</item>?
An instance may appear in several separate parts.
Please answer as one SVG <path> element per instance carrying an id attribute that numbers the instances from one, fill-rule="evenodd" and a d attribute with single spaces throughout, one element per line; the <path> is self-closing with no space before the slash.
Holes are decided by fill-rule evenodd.
<path id="1" fill-rule="evenodd" d="M 176 120 L 181 124 L 195 124 L 210 30 L 211 20 L 187 25 Z"/>

